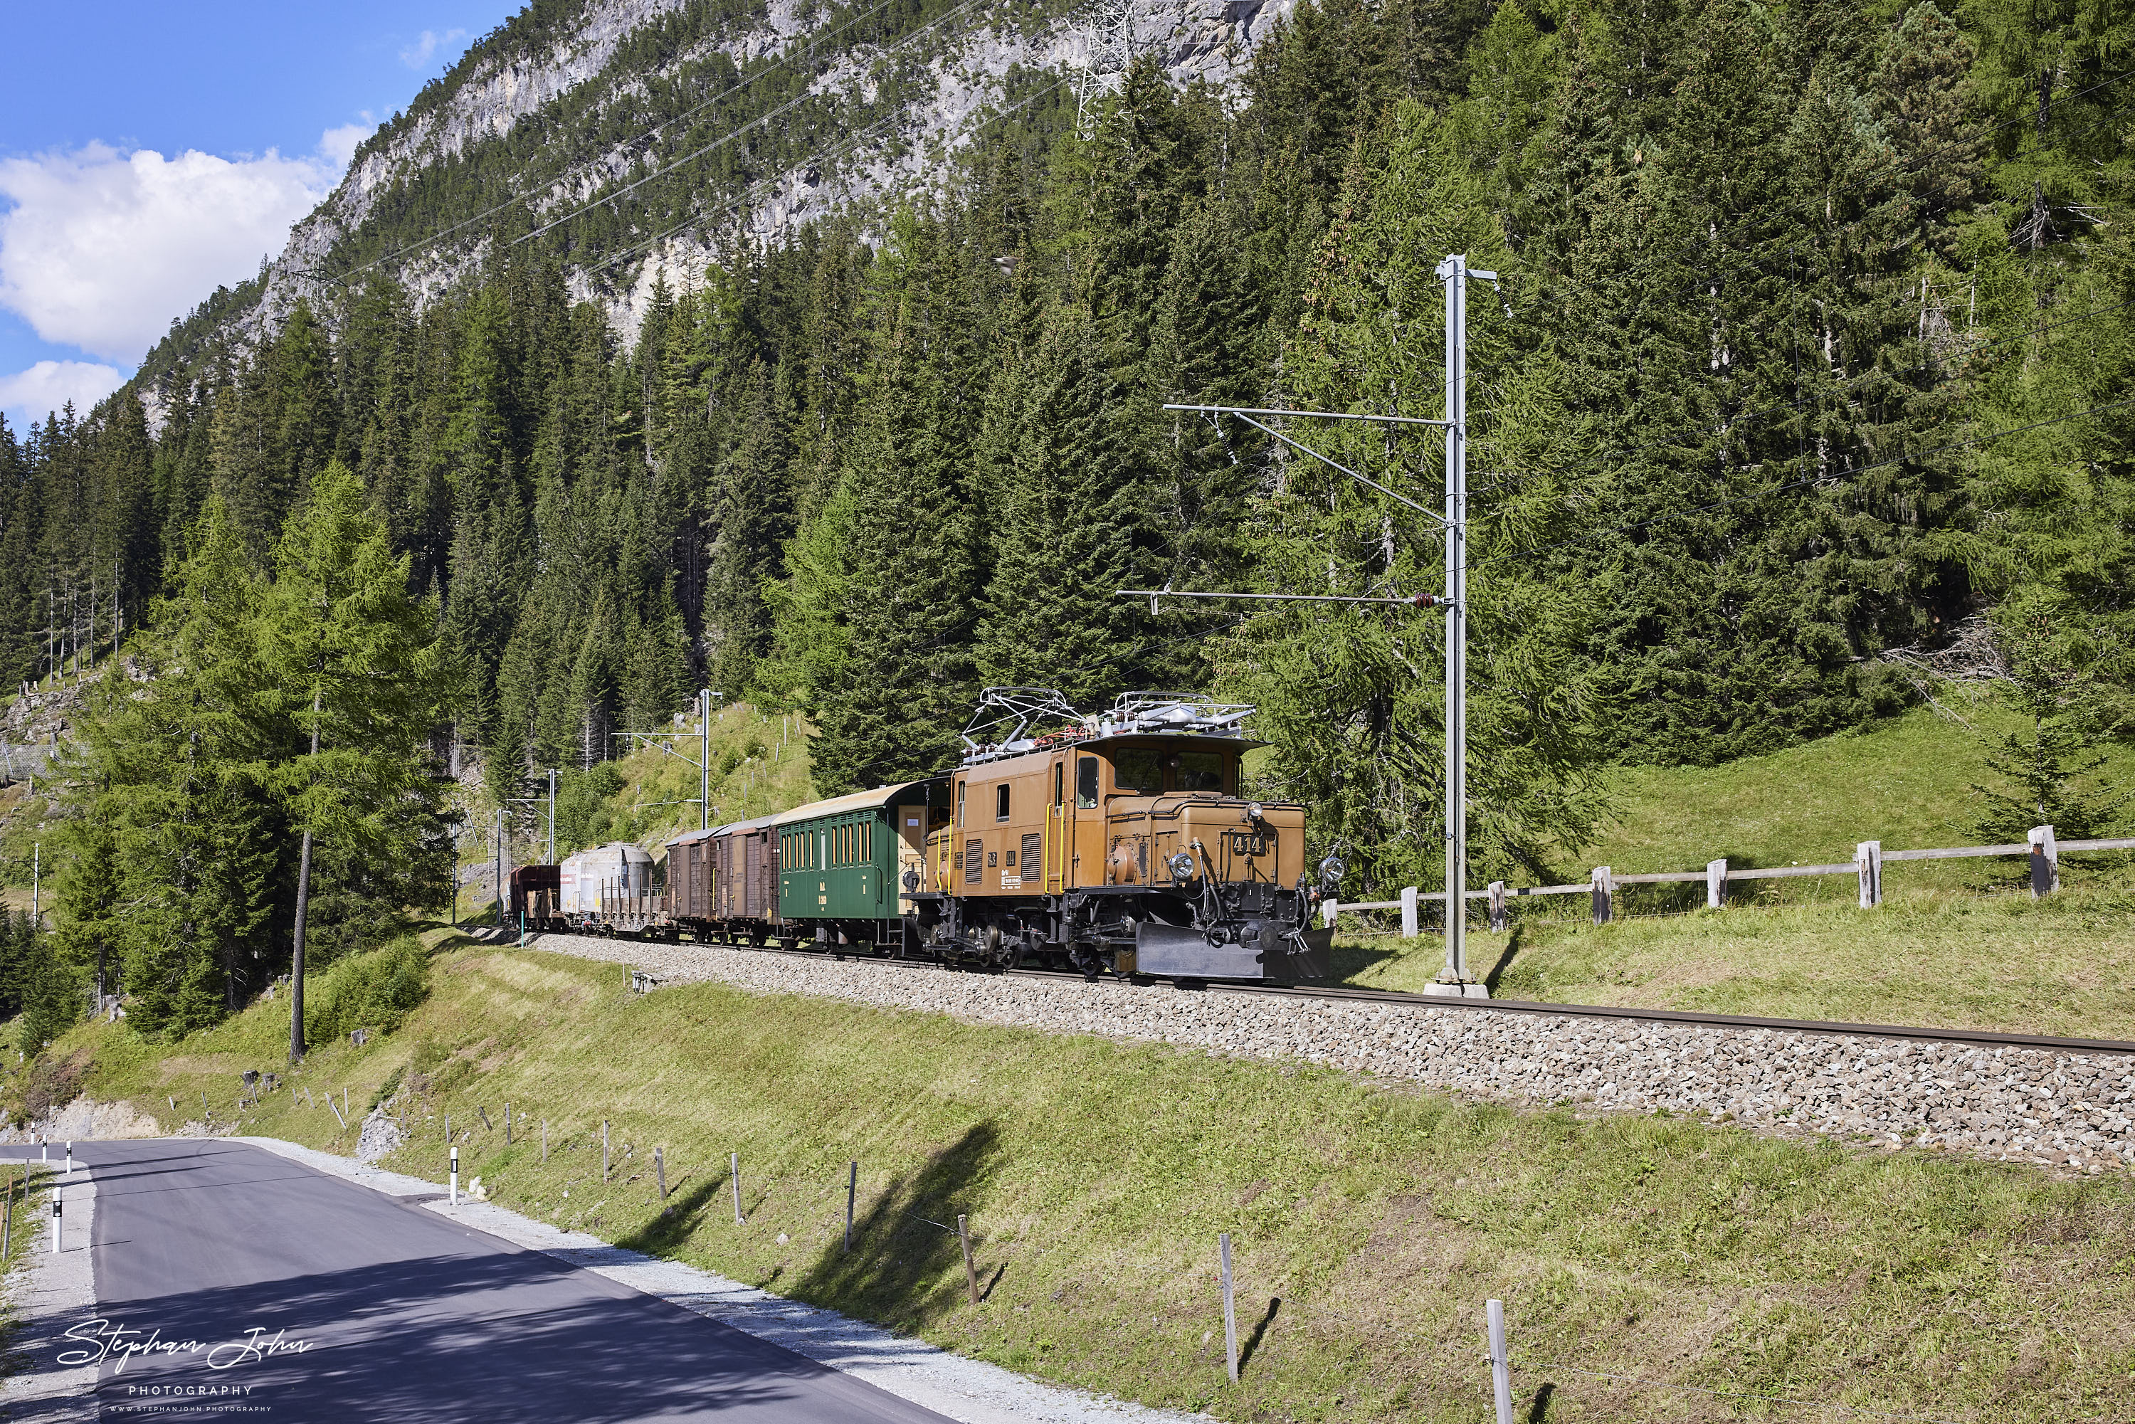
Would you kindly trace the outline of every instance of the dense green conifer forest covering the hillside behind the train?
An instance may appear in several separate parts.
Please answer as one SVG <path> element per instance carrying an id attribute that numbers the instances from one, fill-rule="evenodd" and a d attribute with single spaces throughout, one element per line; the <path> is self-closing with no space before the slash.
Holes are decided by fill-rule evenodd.
<path id="1" fill-rule="evenodd" d="M 2112 702 L 2131 41 L 2094 0 L 1304 0 L 1234 90 L 1138 60 L 927 196 L 732 237 L 628 331 L 574 299 L 628 211 L 438 290 L 374 258 L 489 188 L 410 194 L 275 327 L 209 303 L 98 408 L 0 427 L 4 677 L 92 709 L 73 963 L 211 1023 L 288 971 L 299 895 L 325 956 L 450 895 L 455 775 L 525 794 L 700 687 L 805 713 L 822 794 L 948 764 L 984 685 L 1213 690 L 1351 888 L 1437 884 L 1435 615 L 1117 589 L 1439 591 L 1433 521 L 1161 408 L 1439 416 L 1452 252 L 1501 278 L 1477 875 L 1578 845 L 1614 760 L 1868 724 L 1981 628 Z M 1443 497 L 1435 431 L 1285 431 Z"/>

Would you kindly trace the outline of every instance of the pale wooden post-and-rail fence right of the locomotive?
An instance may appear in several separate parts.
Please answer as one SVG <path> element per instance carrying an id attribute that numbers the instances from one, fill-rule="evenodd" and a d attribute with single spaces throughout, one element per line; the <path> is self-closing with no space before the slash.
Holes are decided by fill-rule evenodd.
<path id="1" fill-rule="evenodd" d="M 1862 841 L 1853 848 L 1853 860 L 1840 865 L 1774 865 L 1766 869 L 1729 869 L 1727 860 L 1710 860 L 1702 871 L 1652 871 L 1644 875 L 1618 875 L 1606 865 L 1597 865 L 1584 884 L 1569 886 L 1507 886 L 1492 880 L 1486 890 L 1469 890 L 1467 899 L 1490 903 L 1490 929 L 1505 929 L 1507 903 L 1522 895 L 1586 895 L 1593 901 L 1595 924 L 1616 918 L 1618 886 L 1697 884 L 1706 886 L 1706 905 L 1719 909 L 1727 903 L 1727 882 L 1731 880 L 1793 880 L 1798 875 L 1853 875 L 1860 882 L 1860 905 L 1883 903 L 1883 865 L 1887 860 L 1964 860 L 1973 856 L 2030 856 L 2030 892 L 2052 895 L 2060 888 L 2060 852 L 2084 850 L 2135 850 L 2135 839 L 2103 841 L 2056 841 L 2052 826 L 2033 826 L 2030 841 L 2022 845 L 1947 845 L 1941 850 L 1883 850 L 1883 841 Z M 1322 922 L 1332 929 L 1343 909 L 1398 909 L 1401 933 L 1413 939 L 1422 933 L 1422 905 L 1445 903 L 1443 890 L 1418 892 L 1409 886 L 1398 901 L 1334 901 L 1319 903 Z"/>

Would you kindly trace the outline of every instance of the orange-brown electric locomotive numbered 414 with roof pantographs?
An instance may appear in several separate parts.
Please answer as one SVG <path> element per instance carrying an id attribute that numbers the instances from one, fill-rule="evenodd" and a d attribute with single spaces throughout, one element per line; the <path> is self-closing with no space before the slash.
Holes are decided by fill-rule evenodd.
<path id="1" fill-rule="evenodd" d="M 1136 692 L 1076 717 L 1046 687 L 989 687 L 965 732 L 927 865 L 903 873 L 907 944 L 989 965 L 1085 974 L 1307 980 L 1330 931 L 1304 852 L 1304 807 L 1240 796 L 1249 707 Z M 1025 737 L 1035 724 L 1065 730 Z"/>

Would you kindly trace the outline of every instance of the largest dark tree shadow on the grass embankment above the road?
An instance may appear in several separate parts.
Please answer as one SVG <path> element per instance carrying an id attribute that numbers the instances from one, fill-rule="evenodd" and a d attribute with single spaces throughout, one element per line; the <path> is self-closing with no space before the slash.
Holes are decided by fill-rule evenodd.
<path id="1" fill-rule="evenodd" d="M 831 1304 L 899 1328 L 922 1328 L 969 1300 L 956 1213 L 971 1215 L 971 1253 L 984 1296 L 1001 1281 L 1006 1262 L 986 1260 L 984 1219 L 978 1208 L 999 1159 L 999 1129 L 969 1127 L 910 1176 L 897 1176 L 852 1221 L 852 1253 L 828 1245 L 803 1268 L 788 1294 Z M 982 1296 L 982 1298 L 984 1298 Z"/>

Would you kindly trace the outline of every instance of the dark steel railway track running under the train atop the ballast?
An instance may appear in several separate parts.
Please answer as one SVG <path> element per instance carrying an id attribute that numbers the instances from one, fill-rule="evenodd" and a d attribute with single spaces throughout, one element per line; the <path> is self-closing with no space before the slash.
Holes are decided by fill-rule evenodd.
<path id="1" fill-rule="evenodd" d="M 886 969 L 946 969 L 950 974 L 993 974 L 1008 978 L 1082 982 L 1085 976 L 1063 969 L 961 969 L 946 961 L 927 959 L 877 959 L 873 954 L 822 954 L 818 950 L 786 950 L 777 946 L 702 944 L 698 948 L 726 948 L 745 954 L 790 954 L 794 959 L 837 959 L 845 963 L 869 963 Z M 1153 980 L 1136 980 L 1153 982 Z M 1631 1018 L 1644 1023 L 1687 1023 L 1712 1029 L 1783 1029 L 1791 1033 L 1823 1033 L 1832 1038 L 1904 1038 L 1939 1044 L 1979 1044 L 1983 1048 L 2041 1048 L 2045 1053 L 2124 1053 L 2135 1055 L 2135 1042 L 2118 1038 L 2056 1038 L 2052 1033 L 1996 1033 L 1992 1029 L 1939 1029 L 1898 1023 L 1838 1023 L 1830 1018 L 1753 1018 L 1746 1014 L 1699 1014 L 1672 1008 L 1618 1008 L 1608 1003 L 1535 1003 L 1531 999 L 1450 999 L 1437 995 L 1407 993 L 1398 988 L 1351 988 L 1347 984 L 1238 984 L 1213 982 L 1193 984 L 1189 993 L 1213 995 L 1266 995 L 1290 999 L 1345 999 L 1360 1003 L 1396 1003 L 1405 1008 L 1448 1008 L 1475 1014 L 1544 1014 L 1578 1018 Z"/>

